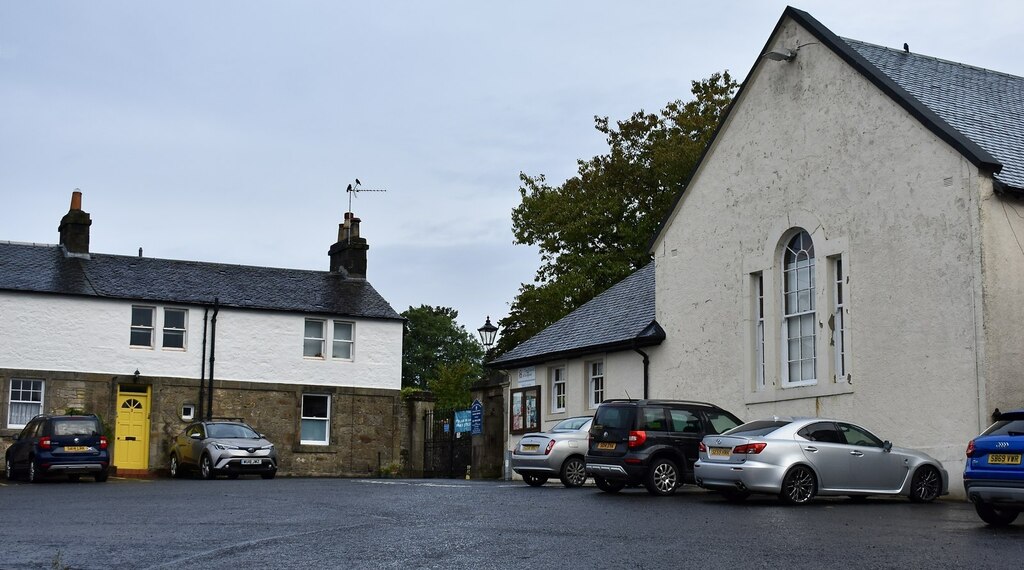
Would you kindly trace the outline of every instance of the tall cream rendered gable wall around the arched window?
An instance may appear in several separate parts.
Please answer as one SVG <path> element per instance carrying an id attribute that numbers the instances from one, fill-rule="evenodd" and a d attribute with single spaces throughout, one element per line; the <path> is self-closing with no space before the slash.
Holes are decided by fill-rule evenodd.
<path id="1" fill-rule="evenodd" d="M 816 42 L 792 21 L 779 36 L 771 45 Z M 708 399 L 748 420 L 860 423 L 942 461 L 963 493 L 964 447 L 984 423 L 983 179 L 820 44 L 793 62 L 763 60 L 654 245 L 668 339 L 651 350 L 653 396 Z M 814 240 L 818 380 L 782 389 L 779 240 L 793 227 Z M 849 384 L 830 376 L 829 255 L 848 275 Z M 755 271 L 766 289 L 764 392 Z"/>

